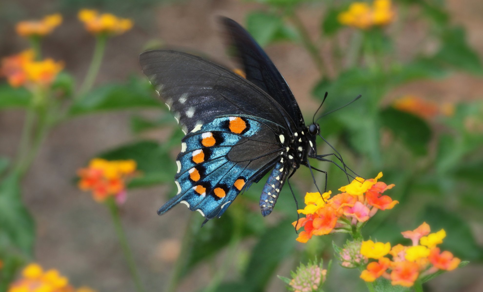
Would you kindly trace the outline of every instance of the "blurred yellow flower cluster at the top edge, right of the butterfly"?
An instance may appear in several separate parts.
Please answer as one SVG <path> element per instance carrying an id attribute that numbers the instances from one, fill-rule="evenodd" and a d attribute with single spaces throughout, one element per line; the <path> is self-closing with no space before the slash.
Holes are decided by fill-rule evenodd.
<path id="1" fill-rule="evenodd" d="M 394 18 L 390 0 L 374 0 L 372 7 L 366 2 L 353 2 L 347 11 L 338 16 L 341 24 L 361 29 L 387 25 Z"/>

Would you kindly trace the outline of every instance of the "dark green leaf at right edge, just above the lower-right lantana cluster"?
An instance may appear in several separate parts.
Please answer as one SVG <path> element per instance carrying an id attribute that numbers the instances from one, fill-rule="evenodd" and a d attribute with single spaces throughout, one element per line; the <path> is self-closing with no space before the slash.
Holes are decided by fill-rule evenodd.
<path id="1" fill-rule="evenodd" d="M 465 260 L 481 260 L 483 249 L 471 232 L 471 228 L 456 212 L 450 212 L 441 207 L 427 206 L 420 222 L 425 221 L 431 226 L 432 232 L 440 229 L 446 231 L 446 238 L 441 244 L 441 250 L 450 251 L 455 256 Z"/>

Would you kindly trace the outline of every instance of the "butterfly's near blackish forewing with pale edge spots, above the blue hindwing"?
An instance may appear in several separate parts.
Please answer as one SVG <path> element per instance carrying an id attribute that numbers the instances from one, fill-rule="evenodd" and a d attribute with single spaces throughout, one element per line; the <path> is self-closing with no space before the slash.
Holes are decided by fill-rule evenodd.
<path id="1" fill-rule="evenodd" d="M 177 51 L 148 51 L 142 71 L 185 133 L 222 115 L 252 115 L 286 125 L 288 114 L 267 93 L 232 71 Z"/>

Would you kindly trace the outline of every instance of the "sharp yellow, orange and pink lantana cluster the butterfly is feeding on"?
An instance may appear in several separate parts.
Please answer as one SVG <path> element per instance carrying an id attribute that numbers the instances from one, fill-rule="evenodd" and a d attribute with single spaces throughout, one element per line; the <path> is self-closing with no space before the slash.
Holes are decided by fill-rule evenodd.
<path id="1" fill-rule="evenodd" d="M 292 223 L 297 230 L 304 227 L 297 241 L 307 242 L 314 235 L 350 233 L 352 226 L 360 228 L 378 210 L 392 209 L 398 201 L 383 193 L 394 185 L 378 182 L 382 176 L 383 173 L 379 173 L 367 180 L 356 177 L 349 185 L 342 186 L 339 189 L 341 193 L 333 197 L 330 197 L 331 191 L 322 195 L 318 192 L 307 193 L 305 208 L 298 210 L 306 217 Z"/>

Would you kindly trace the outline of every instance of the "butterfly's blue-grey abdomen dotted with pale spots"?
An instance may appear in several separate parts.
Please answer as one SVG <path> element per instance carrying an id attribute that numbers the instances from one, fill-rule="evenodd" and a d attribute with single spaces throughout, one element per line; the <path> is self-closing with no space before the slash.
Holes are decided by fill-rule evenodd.
<path id="1" fill-rule="evenodd" d="M 264 217 L 272 212 L 280 194 L 280 190 L 284 186 L 287 173 L 288 170 L 284 168 L 283 162 L 277 162 L 270 173 L 267 183 L 265 183 L 262 194 L 260 195 L 260 210 Z"/>

